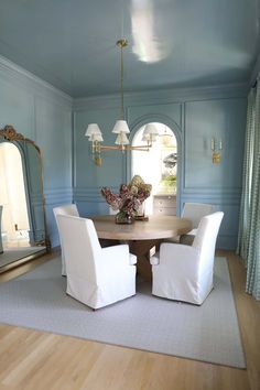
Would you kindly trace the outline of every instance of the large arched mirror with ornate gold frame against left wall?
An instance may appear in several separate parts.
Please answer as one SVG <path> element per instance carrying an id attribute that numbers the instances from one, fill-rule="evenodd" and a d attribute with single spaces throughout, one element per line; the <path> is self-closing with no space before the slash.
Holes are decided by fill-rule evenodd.
<path id="1" fill-rule="evenodd" d="M 0 272 L 48 248 L 42 158 L 12 126 L 0 129 Z"/>

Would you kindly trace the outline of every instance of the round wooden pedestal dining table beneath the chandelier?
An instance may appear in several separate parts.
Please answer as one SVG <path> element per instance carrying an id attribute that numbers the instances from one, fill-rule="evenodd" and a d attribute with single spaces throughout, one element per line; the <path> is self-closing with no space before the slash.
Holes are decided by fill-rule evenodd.
<path id="1" fill-rule="evenodd" d="M 185 235 L 192 230 L 192 221 L 174 216 L 150 216 L 149 220 L 134 220 L 130 225 L 115 223 L 115 216 L 91 217 L 98 238 L 119 240 L 129 245 L 131 253 L 137 254 L 138 273 L 151 280 L 150 249 L 165 238 Z"/>

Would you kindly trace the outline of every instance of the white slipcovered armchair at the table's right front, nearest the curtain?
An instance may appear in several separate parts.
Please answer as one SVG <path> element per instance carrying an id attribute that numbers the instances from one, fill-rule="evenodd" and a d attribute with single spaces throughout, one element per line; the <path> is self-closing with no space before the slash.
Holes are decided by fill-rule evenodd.
<path id="1" fill-rule="evenodd" d="M 224 213 L 202 218 L 193 245 L 161 243 L 151 257 L 152 293 L 201 305 L 213 289 L 216 239 Z"/>

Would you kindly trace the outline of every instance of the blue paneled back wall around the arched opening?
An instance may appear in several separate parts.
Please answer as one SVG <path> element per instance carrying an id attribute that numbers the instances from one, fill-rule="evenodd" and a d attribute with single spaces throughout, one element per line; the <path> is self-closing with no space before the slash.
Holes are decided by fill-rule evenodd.
<path id="1" fill-rule="evenodd" d="M 182 89 L 126 95 L 126 117 L 131 136 L 144 123 L 160 121 L 172 128 L 178 141 L 177 212 L 185 202 L 204 202 L 225 212 L 218 247 L 236 248 L 241 194 L 247 89 L 243 86 Z M 112 144 L 118 117 L 117 97 L 74 100 L 74 198 L 82 215 L 108 210 L 100 187 L 118 189 L 131 177 L 130 155 L 104 153 L 101 167 L 91 161 L 84 137 L 98 122 L 105 144 Z M 221 163 L 212 163 L 210 140 L 223 141 Z"/>

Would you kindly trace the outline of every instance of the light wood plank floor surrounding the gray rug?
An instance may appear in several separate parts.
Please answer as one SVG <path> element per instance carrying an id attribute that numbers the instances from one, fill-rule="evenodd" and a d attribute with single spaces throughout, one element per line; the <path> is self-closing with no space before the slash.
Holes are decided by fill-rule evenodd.
<path id="1" fill-rule="evenodd" d="M 228 258 L 247 370 L 0 325 L 0 390 L 259 390 L 260 303 L 243 292 L 240 259 L 217 254 Z M 2 274 L 0 281 L 34 264 Z"/>

